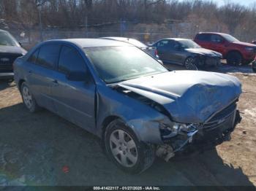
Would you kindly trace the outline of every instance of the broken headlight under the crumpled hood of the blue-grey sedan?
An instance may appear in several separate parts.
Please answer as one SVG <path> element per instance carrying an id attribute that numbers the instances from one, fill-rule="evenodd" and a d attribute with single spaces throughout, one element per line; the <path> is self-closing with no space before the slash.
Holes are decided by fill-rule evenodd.
<path id="1" fill-rule="evenodd" d="M 177 136 L 178 134 L 187 134 L 197 130 L 195 125 L 192 125 L 192 124 L 187 125 L 187 124 L 178 123 L 178 122 L 173 122 L 170 124 L 160 123 L 159 128 L 160 128 L 160 132 L 163 139 L 169 139 L 174 136 Z"/>

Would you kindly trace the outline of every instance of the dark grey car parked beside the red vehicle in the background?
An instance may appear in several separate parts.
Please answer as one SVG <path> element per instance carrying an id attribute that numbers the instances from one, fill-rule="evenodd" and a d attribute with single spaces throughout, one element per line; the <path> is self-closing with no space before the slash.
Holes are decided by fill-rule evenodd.
<path id="1" fill-rule="evenodd" d="M 217 66 L 222 59 L 219 52 L 204 49 L 191 39 L 161 39 L 153 46 L 157 47 L 161 61 L 184 65 L 187 69 Z"/>

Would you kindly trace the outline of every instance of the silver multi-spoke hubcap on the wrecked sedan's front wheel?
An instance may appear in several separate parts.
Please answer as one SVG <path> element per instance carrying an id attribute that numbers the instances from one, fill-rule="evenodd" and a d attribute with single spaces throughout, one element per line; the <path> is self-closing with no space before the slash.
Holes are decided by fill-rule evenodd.
<path id="1" fill-rule="evenodd" d="M 124 130 L 114 130 L 110 135 L 110 149 L 115 159 L 125 167 L 132 167 L 138 160 L 135 141 Z"/>

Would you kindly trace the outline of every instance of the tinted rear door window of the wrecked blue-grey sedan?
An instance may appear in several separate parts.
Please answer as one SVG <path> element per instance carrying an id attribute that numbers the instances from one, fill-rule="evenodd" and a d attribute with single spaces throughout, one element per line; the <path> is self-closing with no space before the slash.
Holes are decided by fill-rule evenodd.
<path id="1" fill-rule="evenodd" d="M 48 68 L 55 68 L 59 59 L 59 44 L 45 44 L 40 47 L 39 55 L 37 57 L 37 64 Z"/>

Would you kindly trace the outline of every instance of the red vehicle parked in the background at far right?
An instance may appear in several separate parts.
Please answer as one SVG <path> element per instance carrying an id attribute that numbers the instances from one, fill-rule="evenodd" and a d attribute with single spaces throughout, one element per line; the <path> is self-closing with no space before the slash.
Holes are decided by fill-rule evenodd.
<path id="1" fill-rule="evenodd" d="M 256 45 L 241 42 L 230 34 L 199 33 L 194 39 L 201 47 L 222 53 L 228 64 L 248 64 L 256 55 Z"/>

